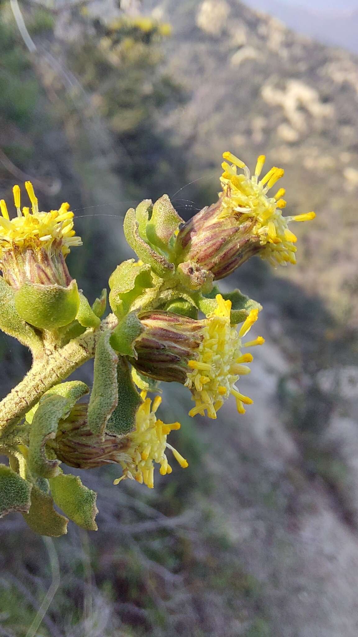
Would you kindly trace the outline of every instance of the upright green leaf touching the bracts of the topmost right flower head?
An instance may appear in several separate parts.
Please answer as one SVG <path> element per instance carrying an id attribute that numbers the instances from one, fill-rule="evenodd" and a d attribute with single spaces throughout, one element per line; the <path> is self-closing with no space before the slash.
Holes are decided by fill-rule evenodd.
<path id="1" fill-rule="evenodd" d="M 173 208 L 168 195 L 163 195 L 153 206 L 152 217 L 147 224 L 148 240 L 162 250 L 168 250 L 171 236 L 182 223 L 183 219 Z"/>

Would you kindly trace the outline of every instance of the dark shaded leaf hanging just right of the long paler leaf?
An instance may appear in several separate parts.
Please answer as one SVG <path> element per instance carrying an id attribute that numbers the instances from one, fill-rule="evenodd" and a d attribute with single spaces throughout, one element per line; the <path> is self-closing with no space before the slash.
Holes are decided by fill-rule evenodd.
<path id="1" fill-rule="evenodd" d="M 120 358 L 117 366 L 118 404 L 107 422 L 106 432 L 122 436 L 136 425 L 136 413 L 143 402 L 132 381 L 129 364 Z"/>

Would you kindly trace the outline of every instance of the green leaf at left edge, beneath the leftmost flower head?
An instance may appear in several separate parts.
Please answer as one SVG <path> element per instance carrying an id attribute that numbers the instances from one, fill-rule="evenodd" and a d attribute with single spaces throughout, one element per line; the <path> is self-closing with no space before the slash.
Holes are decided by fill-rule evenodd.
<path id="1" fill-rule="evenodd" d="M 0 276 L 0 329 L 14 336 L 27 347 L 41 347 L 41 340 L 33 327 L 21 318 L 15 307 L 15 292 Z"/>

